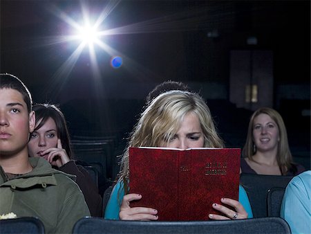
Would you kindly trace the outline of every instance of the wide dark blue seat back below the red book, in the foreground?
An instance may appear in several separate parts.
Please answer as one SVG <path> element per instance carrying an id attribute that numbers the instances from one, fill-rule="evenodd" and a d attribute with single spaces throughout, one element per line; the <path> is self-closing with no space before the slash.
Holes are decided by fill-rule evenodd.
<path id="1" fill-rule="evenodd" d="M 73 234 L 86 233 L 283 233 L 290 234 L 290 227 L 280 217 L 238 219 L 225 221 L 120 221 L 97 217 L 79 219 Z"/>

